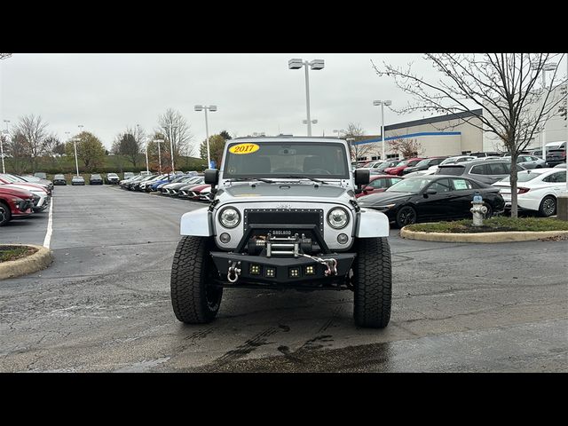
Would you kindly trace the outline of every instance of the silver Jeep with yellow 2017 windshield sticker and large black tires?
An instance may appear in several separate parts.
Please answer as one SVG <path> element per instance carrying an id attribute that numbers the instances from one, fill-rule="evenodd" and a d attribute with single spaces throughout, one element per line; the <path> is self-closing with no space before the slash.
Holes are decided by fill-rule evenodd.
<path id="1" fill-rule="evenodd" d="M 355 323 L 390 319 L 389 219 L 361 209 L 368 170 L 337 138 L 236 138 L 206 170 L 209 208 L 181 218 L 171 302 L 188 324 L 215 318 L 223 288 L 349 289 Z"/>

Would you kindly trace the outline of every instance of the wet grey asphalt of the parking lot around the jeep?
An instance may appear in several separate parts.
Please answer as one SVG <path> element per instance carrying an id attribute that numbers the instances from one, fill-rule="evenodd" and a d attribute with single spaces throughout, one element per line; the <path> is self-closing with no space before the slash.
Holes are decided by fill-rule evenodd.
<path id="1" fill-rule="evenodd" d="M 0 371 L 568 371 L 567 241 L 410 241 L 393 229 L 383 330 L 354 326 L 349 291 L 253 289 L 225 290 L 214 322 L 187 326 L 170 266 L 179 218 L 201 207 L 58 187 L 54 263 L 0 281 Z M 3 227 L 1 241 L 41 244 L 42 215 Z"/>

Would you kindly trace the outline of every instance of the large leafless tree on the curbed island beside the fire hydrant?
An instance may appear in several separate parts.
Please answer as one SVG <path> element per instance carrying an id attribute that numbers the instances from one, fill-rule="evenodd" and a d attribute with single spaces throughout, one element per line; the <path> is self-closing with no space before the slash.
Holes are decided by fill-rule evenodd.
<path id="1" fill-rule="evenodd" d="M 464 122 L 501 139 L 511 154 L 511 217 L 517 217 L 518 154 L 548 118 L 558 114 L 563 100 L 551 96 L 565 83 L 557 77 L 557 68 L 548 88 L 540 87 L 540 73 L 563 58 L 564 54 L 551 53 L 426 54 L 425 59 L 439 72 L 437 81 L 415 74 L 413 64 L 383 64 L 381 69 L 373 61 L 371 65 L 377 75 L 392 77 L 398 88 L 413 97 L 412 103 L 394 111 L 467 112 Z M 482 113 L 473 113 L 470 106 L 481 106 Z"/>

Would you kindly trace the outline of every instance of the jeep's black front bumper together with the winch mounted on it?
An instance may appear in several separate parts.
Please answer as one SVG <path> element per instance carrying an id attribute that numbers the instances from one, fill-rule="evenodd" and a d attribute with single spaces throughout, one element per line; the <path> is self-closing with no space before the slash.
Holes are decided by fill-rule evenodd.
<path id="1" fill-rule="evenodd" d="M 255 228 L 251 227 L 251 231 Z M 325 242 L 317 236 L 316 241 L 312 244 L 312 239 L 306 238 L 304 233 L 289 237 L 274 237 L 267 233 L 264 239 L 248 241 L 248 252 L 254 254 L 224 251 L 212 251 L 210 254 L 221 276 L 235 285 L 256 283 L 290 286 L 301 284 L 302 281 L 313 285 L 317 284 L 314 283 L 317 280 L 343 280 L 350 271 L 356 254 L 330 253 L 313 256 L 305 253 L 311 253 L 312 248 L 319 248 L 321 245 L 327 248 Z"/>

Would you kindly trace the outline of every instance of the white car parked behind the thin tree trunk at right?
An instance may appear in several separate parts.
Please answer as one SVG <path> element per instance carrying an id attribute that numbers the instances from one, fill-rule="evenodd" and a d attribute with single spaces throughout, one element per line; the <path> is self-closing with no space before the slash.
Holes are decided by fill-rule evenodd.
<path id="1" fill-rule="evenodd" d="M 505 209 L 511 208 L 509 177 L 495 182 L 493 186 L 505 200 Z M 556 215 L 556 197 L 566 187 L 566 170 L 534 169 L 517 173 L 517 204 L 519 209 L 538 211 L 540 216 Z"/>

